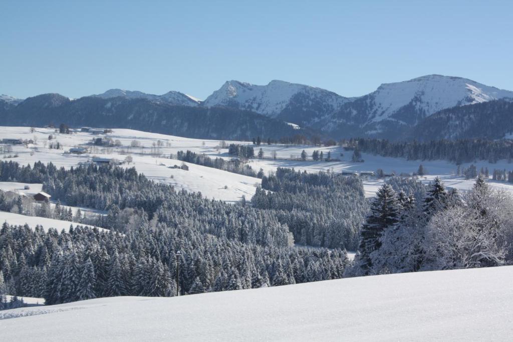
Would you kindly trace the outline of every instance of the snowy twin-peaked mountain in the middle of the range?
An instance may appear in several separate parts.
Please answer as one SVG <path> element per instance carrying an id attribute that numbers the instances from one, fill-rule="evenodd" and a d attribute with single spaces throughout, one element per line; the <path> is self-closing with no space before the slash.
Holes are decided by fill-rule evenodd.
<path id="1" fill-rule="evenodd" d="M 250 110 L 303 125 L 336 111 L 345 102 L 347 98 L 328 90 L 274 80 L 265 86 L 227 81 L 203 104 Z"/>

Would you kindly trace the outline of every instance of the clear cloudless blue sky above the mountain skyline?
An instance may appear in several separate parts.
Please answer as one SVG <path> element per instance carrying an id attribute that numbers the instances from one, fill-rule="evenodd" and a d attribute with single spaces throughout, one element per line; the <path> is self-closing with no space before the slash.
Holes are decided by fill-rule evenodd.
<path id="1" fill-rule="evenodd" d="M 425 74 L 513 90 L 511 1 L 0 0 L 0 93 L 201 99 L 228 79 L 344 96 Z"/>

